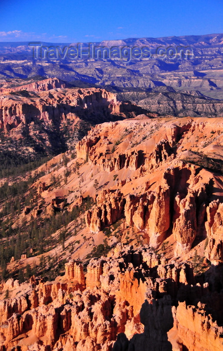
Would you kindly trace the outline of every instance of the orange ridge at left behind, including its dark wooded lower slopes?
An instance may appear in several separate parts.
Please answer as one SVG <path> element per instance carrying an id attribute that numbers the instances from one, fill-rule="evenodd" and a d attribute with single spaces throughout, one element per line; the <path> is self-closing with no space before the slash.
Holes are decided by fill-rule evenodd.
<path id="1" fill-rule="evenodd" d="M 57 78 L 9 84 L 0 95 L 3 152 L 25 159 L 74 148 L 91 125 L 142 110 L 131 103 L 125 107 L 105 89 L 74 88 Z"/>

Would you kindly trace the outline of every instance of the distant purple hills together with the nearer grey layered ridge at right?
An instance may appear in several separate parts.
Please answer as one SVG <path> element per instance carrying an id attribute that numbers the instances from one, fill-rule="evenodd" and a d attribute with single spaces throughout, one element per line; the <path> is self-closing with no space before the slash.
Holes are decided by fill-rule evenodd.
<path id="1" fill-rule="evenodd" d="M 0 43 L 0 91 L 22 90 L 24 83 L 59 79 L 63 86 L 103 88 L 117 93 L 120 101 L 135 102 L 149 112 L 175 116 L 222 116 L 223 34 L 163 38 L 128 38 L 92 43 L 98 48 L 147 48 L 150 57 L 131 60 L 102 56 L 72 60 L 36 59 L 29 43 Z M 40 43 L 54 47 L 54 43 Z M 75 43 L 58 43 L 72 47 Z M 83 44 L 88 48 L 88 44 Z M 174 55 L 169 54 L 169 50 Z M 159 54 L 163 50 L 164 54 Z M 183 55 L 180 55 L 180 50 Z M 189 56 L 186 56 L 186 50 Z M 175 55 L 176 51 L 178 55 Z M 21 86 L 21 88 L 19 88 Z M 49 85 L 45 90 L 60 88 Z M 99 123 L 99 122 L 98 122 Z"/>

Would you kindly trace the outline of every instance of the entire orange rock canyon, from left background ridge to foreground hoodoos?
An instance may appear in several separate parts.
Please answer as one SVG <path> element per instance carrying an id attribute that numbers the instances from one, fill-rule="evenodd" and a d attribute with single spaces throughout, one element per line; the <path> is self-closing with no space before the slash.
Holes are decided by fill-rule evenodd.
<path id="1" fill-rule="evenodd" d="M 1 152 L 49 156 L 0 180 L 0 351 L 220 351 L 220 100 L 184 92 L 198 113 L 179 95 L 171 115 L 161 89 L 55 77 L 0 93 Z"/>

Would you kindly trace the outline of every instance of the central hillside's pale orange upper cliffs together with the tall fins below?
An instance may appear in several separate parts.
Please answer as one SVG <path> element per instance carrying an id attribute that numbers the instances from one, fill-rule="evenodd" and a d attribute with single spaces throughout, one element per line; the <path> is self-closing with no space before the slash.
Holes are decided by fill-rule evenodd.
<path id="1" fill-rule="evenodd" d="M 153 247 L 172 234 L 176 256 L 188 253 L 195 239 L 205 237 L 208 238 L 207 251 L 212 250 L 212 245 L 222 252 L 221 206 L 219 200 L 211 202 L 217 196 L 214 187 L 216 193 L 221 193 L 221 155 L 218 173 L 200 167 L 207 162 L 208 154 L 212 155 L 211 147 L 217 149 L 220 143 L 221 124 L 217 122 L 215 131 L 208 121 L 159 122 L 158 125 L 155 121 L 129 121 L 128 129 L 126 122 L 103 124 L 77 144 L 77 157 L 88 158 L 92 167 L 100 167 L 105 174 L 112 173 L 116 184 L 98 191 L 95 207 L 85 215 L 86 225 L 92 233 L 98 233 L 124 218 L 126 226 L 134 226 Z M 151 136 L 153 128 L 159 130 Z M 136 139 L 140 132 L 141 136 Z M 215 133 L 216 145 L 210 142 L 210 152 L 207 146 L 207 155 L 199 154 L 196 151 L 198 134 L 205 138 Z M 189 144 L 193 150 L 187 151 Z M 133 176 L 123 177 L 124 174 Z M 216 253 L 213 256 L 216 257 Z"/>

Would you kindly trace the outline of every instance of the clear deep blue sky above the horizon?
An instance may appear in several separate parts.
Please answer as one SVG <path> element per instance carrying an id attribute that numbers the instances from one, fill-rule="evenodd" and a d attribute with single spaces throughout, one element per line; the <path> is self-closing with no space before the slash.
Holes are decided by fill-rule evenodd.
<path id="1" fill-rule="evenodd" d="M 91 42 L 223 33 L 222 0 L 0 0 L 0 41 Z"/>

